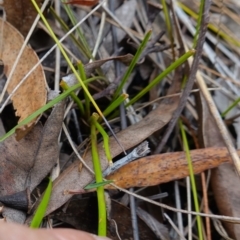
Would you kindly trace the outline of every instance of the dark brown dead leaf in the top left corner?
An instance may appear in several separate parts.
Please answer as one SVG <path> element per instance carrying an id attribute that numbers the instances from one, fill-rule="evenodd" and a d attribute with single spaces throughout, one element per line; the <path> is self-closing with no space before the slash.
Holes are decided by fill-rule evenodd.
<path id="1" fill-rule="evenodd" d="M 39 6 L 42 2 L 42 0 L 36 0 Z M 5 0 L 2 6 L 6 12 L 7 21 L 25 37 L 37 16 L 32 2 L 30 0 Z"/>

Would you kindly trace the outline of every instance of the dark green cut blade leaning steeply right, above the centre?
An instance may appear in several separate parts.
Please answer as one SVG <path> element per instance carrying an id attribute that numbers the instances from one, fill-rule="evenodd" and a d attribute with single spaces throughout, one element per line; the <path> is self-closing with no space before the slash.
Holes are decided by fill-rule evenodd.
<path id="1" fill-rule="evenodd" d="M 127 71 L 125 72 L 125 74 L 124 74 L 124 76 L 123 76 L 123 78 L 122 78 L 122 81 L 121 81 L 120 85 L 117 87 L 117 89 L 116 89 L 116 91 L 115 91 L 115 93 L 114 93 L 114 95 L 113 95 L 113 99 L 114 99 L 114 100 L 118 97 L 118 95 L 119 95 L 120 92 L 122 91 L 123 86 L 124 86 L 125 83 L 127 82 L 130 74 L 132 73 L 133 68 L 134 68 L 135 65 L 137 64 L 137 62 L 138 62 L 138 60 L 139 60 L 139 58 L 140 58 L 140 56 L 141 56 L 144 48 L 146 47 L 146 45 L 147 45 L 147 43 L 148 43 L 148 40 L 149 40 L 149 38 L 151 37 L 151 35 L 152 35 L 152 30 L 149 30 L 149 31 L 147 32 L 147 34 L 144 36 L 144 39 L 142 40 L 140 46 L 138 47 L 138 50 L 137 50 L 136 54 L 134 55 L 134 57 L 133 57 L 130 65 L 129 65 L 128 69 L 127 69 Z"/>

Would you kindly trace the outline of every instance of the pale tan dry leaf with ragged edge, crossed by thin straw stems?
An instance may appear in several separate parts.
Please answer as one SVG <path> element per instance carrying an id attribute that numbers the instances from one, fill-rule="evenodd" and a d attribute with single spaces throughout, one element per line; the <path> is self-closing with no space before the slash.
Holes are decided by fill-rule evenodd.
<path id="1" fill-rule="evenodd" d="M 3 34 L 0 31 L 0 40 L 2 42 L 2 53 L 0 58 L 3 60 L 6 68 L 5 73 L 8 76 L 24 40 L 22 35 L 11 24 L 0 19 L 0 26 L 2 26 L 2 24 L 4 24 L 4 26 Z M 8 85 L 7 91 L 9 94 L 38 62 L 38 56 L 33 49 L 29 46 L 25 47 Z M 20 117 L 19 122 L 46 104 L 46 79 L 41 65 L 34 70 L 16 91 L 12 97 L 12 101 L 14 109 L 16 109 L 16 115 Z M 36 120 L 32 121 L 27 127 L 29 128 L 35 122 Z M 23 136 L 24 129 L 23 134 L 19 135 L 18 139 L 21 139 Z"/>

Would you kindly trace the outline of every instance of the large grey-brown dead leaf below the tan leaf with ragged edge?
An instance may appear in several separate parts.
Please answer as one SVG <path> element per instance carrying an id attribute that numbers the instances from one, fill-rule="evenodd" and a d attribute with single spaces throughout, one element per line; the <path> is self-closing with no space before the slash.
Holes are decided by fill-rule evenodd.
<path id="1" fill-rule="evenodd" d="M 0 143 L 0 195 L 32 191 L 56 164 L 58 136 L 62 127 L 65 101 L 56 105 L 44 127 L 37 124 L 19 142 L 14 136 Z M 4 208 L 3 215 L 8 218 Z"/>

